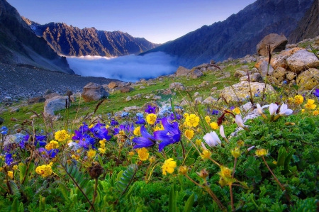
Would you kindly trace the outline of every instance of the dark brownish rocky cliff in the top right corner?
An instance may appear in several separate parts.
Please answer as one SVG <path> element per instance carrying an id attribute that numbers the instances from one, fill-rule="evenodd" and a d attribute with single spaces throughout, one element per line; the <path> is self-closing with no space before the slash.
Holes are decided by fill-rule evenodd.
<path id="1" fill-rule="evenodd" d="M 289 35 L 289 43 L 298 43 L 306 38 L 315 38 L 319 35 L 319 0 L 313 1 L 313 6 L 301 18 L 298 26 L 291 35 Z"/>

